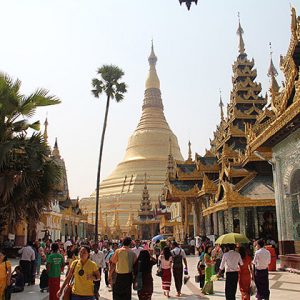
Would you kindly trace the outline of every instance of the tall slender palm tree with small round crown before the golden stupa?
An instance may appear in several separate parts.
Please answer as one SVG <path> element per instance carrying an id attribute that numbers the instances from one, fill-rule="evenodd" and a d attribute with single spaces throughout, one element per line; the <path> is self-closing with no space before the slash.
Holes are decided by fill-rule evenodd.
<path id="1" fill-rule="evenodd" d="M 104 137 L 107 126 L 107 116 L 109 110 L 109 104 L 111 99 L 115 99 L 116 102 L 121 102 L 124 98 L 124 94 L 127 92 L 127 86 L 124 82 L 119 80 L 124 75 L 124 72 L 114 65 L 103 65 L 98 69 L 97 74 L 100 75 L 100 79 L 94 78 L 92 80 L 93 90 L 92 93 L 96 98 L 104 92 L 106 94 L 106 108 L 104 115 L 104 122 L 101 135 L 98 170 L 97 170 L 97 182 L 96 182 L 96 219 L 95 219 L 95 240 L 98 241 L 98 218 L 99 218 L 99 189 L 100 189 L 100 172 L 102 153 L 104 145 Z"/>

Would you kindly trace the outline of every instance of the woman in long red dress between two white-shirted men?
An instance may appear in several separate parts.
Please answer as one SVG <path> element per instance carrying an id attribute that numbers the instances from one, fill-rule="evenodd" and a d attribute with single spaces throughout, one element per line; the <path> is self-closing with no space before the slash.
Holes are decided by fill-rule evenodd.
<path id="1" fill-rule="evenodd" d="M 251 256 L 247 254 L 244 247 L 239 248 L 240 255 L 243 260 L 243 265 L 240 266 L 239 271 L 239 286 L 241 291 L 242 300 L 250 300 L 250 285 L 251 285 Z"/>

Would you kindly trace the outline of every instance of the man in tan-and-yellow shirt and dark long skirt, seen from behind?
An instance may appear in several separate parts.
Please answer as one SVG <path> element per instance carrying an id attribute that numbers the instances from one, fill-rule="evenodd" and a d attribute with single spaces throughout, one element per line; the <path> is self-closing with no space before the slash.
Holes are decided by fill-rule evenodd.
<path id="1" fill-rule="evenodd" d="M 123 246 L 117 249 L 111 258 L 116 272 L 116 281 L 113 284 L 113 300 L 131 300 L 133 265 L 137 260 L 135 253 L 130 249 L 131 243 L 131 238 L 125 237 Z M 112 273 L 110 272 L 111 276 Z"/>

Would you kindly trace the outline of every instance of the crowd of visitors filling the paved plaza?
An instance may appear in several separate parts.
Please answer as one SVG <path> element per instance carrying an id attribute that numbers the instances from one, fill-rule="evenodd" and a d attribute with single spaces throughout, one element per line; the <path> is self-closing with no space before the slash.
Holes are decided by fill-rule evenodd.
<path id="1" fill-rule="evenodd" d="M 250 300 L 254 282 L 256 298 L 269 299 L 270 252 L 264 248 L 263 240 L 248 245 L 221 246 L 203 237 L 195 247 L 199 257 L 197 265 L 193 266 L 198 270 L 195 280 L 203 294 L 213 294 L 213 282 L 225 277 L 227 300 L 235 299 L 238 284 L 241 299 Z M 7 299 L 7 293 L 22 292 L 25 285 L 35 284 L 38 276 L 41 291 L 48 290 L 50 300 L 61 296 L 72 300 L 99 299 L 102 277 L 114 300 L 130 300 L 132 288 L 140 300 L 150 300 L 155 265 L 167 298 L 172 280 L 177 297 L 181 296 L 183 283 L 189 280 L 186 253 L 175 240 L 141 242 L 125 237 L 115 242 L 67 240 L 62 243 L 48 239 L 28 242 L 19 254 L 19 266 L 12 272 L 11 263 L 0 251 L 0 300 Z M 43 264 L 45 268 L 40 273 Z M 65 275 L 63 284 L 62 274 Z"/>

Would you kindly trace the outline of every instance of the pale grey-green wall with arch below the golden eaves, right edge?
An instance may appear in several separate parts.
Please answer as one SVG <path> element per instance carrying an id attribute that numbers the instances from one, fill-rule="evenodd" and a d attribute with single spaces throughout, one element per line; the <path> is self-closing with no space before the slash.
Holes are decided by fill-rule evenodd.
<path id="1" fill-rule="evenodd" d="M 294 241 L 295 239 L 300 241 L 300 233 L 297 233 L 297 222 L 292 215 L 290 190 L 292 176 L 300 169 L 300 129 L 277 144 L 272 151 L 275 163 L 273 173 L 280 252 L 294 253 Z M 298 225 L 300 226 L 300 223 Z"/>

